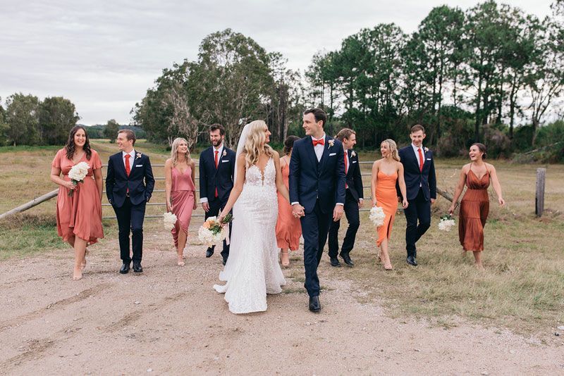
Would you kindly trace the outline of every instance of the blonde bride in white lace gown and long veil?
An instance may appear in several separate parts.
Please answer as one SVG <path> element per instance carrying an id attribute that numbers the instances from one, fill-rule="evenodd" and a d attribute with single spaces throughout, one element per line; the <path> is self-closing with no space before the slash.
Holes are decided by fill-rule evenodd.
<path id="1" fill-rule="evenodd" d="M 276 190 L 288 202 L 280 158 L 266 143 L 270 132 L 266 123 L 255 120 L 245 125 L 235 159 L 234 186 L 218 219 L 233 208 L 233 231 L 229 258 L 214 285 L 225 293 L 229 311 L 250 313 L 266 311 L 266 294 L 279 294 L 286 284 L 278 264 Z"/>

